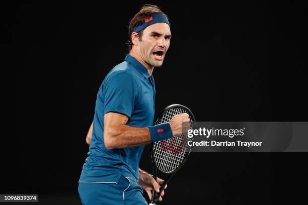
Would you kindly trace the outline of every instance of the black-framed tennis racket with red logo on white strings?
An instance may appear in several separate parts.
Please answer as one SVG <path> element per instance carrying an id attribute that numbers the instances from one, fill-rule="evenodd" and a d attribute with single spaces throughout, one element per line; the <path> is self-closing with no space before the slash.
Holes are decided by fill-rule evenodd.
<path id="1" fill-rule="evenodd" d="M 185 106 L 182 105 L 171 105 L 165 108 L 157 119 L 155 125 L 162 123 L 168 123 L 175 115 L 187 113 L 190 120 L 190 129 L 192 128 L 192 122 L 195 122 L 195 117 L 192 112 Z M 152 190 L 151 202 L 149 205 L 156 205 L 155 202 L 159 200 L 159 197 L 164 190 L 165 185 L 174 176 L 174 174 L 181 168 L 185 163 L 191 146 L 189 146 L 187 134 L 181 134 L 173 136 L 170 139 L 157 141 L 151 144 L 151 161 L 153 168 L 153 177 L 155 180 L 158 177 L 158 173 L 162 176 L 165 181 L 160 188 L 160 192 L 157 193 L 155 189 Z"/>

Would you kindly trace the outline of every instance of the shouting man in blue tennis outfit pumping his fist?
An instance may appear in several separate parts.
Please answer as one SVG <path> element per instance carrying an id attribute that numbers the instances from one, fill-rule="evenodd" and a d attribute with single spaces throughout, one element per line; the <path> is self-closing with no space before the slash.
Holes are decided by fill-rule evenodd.
<path id="1" fill-rule="evenodd" d="M 182 114 L 151 126 L 156 93 L 152 72 L 163 64 L 170 38 L 168 17 L 157 6 L 144 5 L 130 21 L 129 54 L 107 74 L 97 94 L 89 156 L 79 180 L 83 204 L 144 205 L 142 188 L 149 197 L 153 188 L 159 192 L 164 181 L 138 167 L 144 145 L 181 134 L 182 122 L 189 122 Z"/>

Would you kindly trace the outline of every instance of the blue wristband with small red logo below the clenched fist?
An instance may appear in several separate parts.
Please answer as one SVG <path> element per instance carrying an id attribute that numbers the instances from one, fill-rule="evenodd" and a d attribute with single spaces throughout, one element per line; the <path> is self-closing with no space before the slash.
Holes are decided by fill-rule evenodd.
<path id="1" fill-rule="evenodd" d="M 152 142 L 166 140 L 173 137 L 172 130 L 169 123 L 149 126 L 148 130 L 151 135 Z"/>

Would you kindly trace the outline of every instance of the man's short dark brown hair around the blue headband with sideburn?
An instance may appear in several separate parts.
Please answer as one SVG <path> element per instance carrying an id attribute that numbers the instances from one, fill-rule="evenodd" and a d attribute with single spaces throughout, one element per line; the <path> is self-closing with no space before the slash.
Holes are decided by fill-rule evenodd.
<path id="1" fill-rule="evenodd" d="M 153 14 L 163 14 L 168 18 L 168 21 L 170 22 L 169 17 L 164 12 L 162 12 L 162 10 L 158 6 L 149 5 L 149 4 L 143 5 L 140 11 L 137 14 L 135 14 L 135 16 L 129 22 L 128 41 L 127 41 L 128 51 L 131 50 L 132 45 L 133 45 L 132 40 L 131 40 L 131 34 L 134 28 L 138 26 L 139 24 L 141 24 L 144 21 L 144 19 L 149 18 Z M 143 30 L 144 29 L 139 31 L 138 34 L 136 35 L 140 41 L 141 41 Z"/>

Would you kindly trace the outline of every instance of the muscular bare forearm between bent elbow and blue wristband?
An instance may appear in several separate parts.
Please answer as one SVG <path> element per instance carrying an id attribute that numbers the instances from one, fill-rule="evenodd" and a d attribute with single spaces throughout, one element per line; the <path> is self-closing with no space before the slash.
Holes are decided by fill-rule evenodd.
<path id="1" fill-rule="evenodd" d="M 105 137 L 108 137 L 108 142 Z M 122 124 L 118 128 L 104 130 L 104 140 L 107 148 L 120 149 L 149 144 L 151 136 L 147 127 L 136 128 Z"/>

